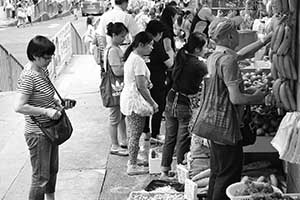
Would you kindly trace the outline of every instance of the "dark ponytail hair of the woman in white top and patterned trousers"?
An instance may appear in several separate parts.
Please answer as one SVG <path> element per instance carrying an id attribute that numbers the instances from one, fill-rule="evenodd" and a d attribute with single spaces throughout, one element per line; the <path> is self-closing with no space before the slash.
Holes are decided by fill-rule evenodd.
<path id="1" fill-rule="evenodd" d="M 129 57 L 130 53 L 136 49 L 139 44 L 143 44 L 143 45 L 147 45 L 149 44 L 151 41 L 153 40 L 153 37 L 150 33 L 142 31 L 139 32 L 135 37 L 133 42 L 129 45 L 129 47 L 126 49 L 125 53 L 124 53 L 124 61 L 127 60 L 127 58 Z"/>

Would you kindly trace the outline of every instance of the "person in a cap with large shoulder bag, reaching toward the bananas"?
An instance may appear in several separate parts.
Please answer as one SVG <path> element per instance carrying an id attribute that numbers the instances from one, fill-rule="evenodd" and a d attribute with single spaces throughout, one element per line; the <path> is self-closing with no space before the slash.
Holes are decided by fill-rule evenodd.
<path id="1" fill-rule="evenodd" d="M 252 91 L 245 91 L 238 60 L 253 55 L 253 52 L 266 45 L 271 39 L 271 34 L 260 41 L 244 47 L 239 52 L 235 52 L 234 49 L 239 45 L 239 40 L 236 39 L 238 38 L 236 26 L 234 22 L 229 19 L 219 18 L 211 23 L 209 36 L 216 42 L 217 47 L 215 52 L 207 60 L 210 79 L 208 83 L 211 83 L 211 80 L 218 79 L 220 84 L 211 91 L 212 93 L 218 94 L 215 95 L 217 99 L 215 99 L 214 102 L 222 102 L 224 105 L 228 105 L 228 107 L 225 108 L 227 111 L 234 108 L 231 111 L 233 111 L 234 118 L 237 120 L 232 121 L 232 118 L 219 120 L 231 121 L 235 127 L 232 135 L 234 135 L 233 137 L 235 138 L 239 138 L 238 141 L 240 141 L 235 145 L 224 144 L 215 140 L 210 141 L 211 173 L 208 200 L 227 200 L 228 197 L 225 193 L 226 188 L 232 183 L 239 182 L 241 179 L 243 146 L 242 135 L 239 129 L 242 124 L 240 119 L 243 116 L 244 105 L 263 104 L 264 98 L 267 95 L 266 92 L 258 88 L 252 88 Z M 221 91 L 227 92 L 221 93 Z M 211 95 L 204 96 L 202 102 L 211 101 L 205 99 L 211 97 Z M 220 98 L 222 99 L 218 100 L 219 96 L 221 96 Z M 226 102 L 230 103 L 225 104 Z M 221 107 L 221 103 L 218 105 Z M 203 108 L 202 105 L 200 105 L 200 107 L 201 114 L 201 110 L 205 110 L 205 108 Z M 223 109 L 223 107 L 220 109 Z M 220 111 L 218 110 L 218 112 Z M 197 119 L 192 133 L 202 136 L 201 131 L 203 132 L 203 129 L 201 126 L 198 126 L 198 123 L 199 121 Z M 211 132 L 210 134 L 213 135 L 214 133 L 215 132 Z M 217 137 L 218 136 L 215 136 L 215 138 Z"/>

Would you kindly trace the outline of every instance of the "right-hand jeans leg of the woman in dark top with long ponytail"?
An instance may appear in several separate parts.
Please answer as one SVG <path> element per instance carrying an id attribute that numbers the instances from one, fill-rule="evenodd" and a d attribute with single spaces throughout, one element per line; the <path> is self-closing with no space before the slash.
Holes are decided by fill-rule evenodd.
<path id="1" fill-rule="evenodd" d="M 189 123 L 192 118 L 192 109 L 187 105 L 177 105 L 178 115 L 178 135 L 176 146 L 177 163 L 182 164 L 184 154 L 190 150 L 191 137 L 189 133 Z"/>

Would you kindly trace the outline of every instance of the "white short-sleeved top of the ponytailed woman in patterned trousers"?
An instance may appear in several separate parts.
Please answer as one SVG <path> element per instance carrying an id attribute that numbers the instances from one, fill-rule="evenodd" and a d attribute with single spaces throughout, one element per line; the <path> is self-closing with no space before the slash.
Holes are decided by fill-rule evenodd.
<path id="1" fill-rule="evenodd" d="M 132 52 L 124 63 L 124 88 L 120 96 L 120 108 L 124 115 L 131 115 L 136 109 L 137 86 L 135 77 L 143 75 L 150 81 L 150 71 L 144 59 Z"/>

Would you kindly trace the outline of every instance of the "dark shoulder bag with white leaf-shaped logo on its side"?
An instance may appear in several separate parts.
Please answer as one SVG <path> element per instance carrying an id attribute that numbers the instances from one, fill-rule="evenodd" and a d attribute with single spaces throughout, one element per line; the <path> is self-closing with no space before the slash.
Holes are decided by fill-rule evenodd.
<path id="1" fill-rule="evenodd" d="M 109 52 L 110 48 L 107 50 Z M 106 70 L 101 72 L 100 94 L 104 107 L 114 107 L 120 105 L 120 94 L 124 83 L 123 76 L 116 76 L 108 62 L 106 56 Z"/>

